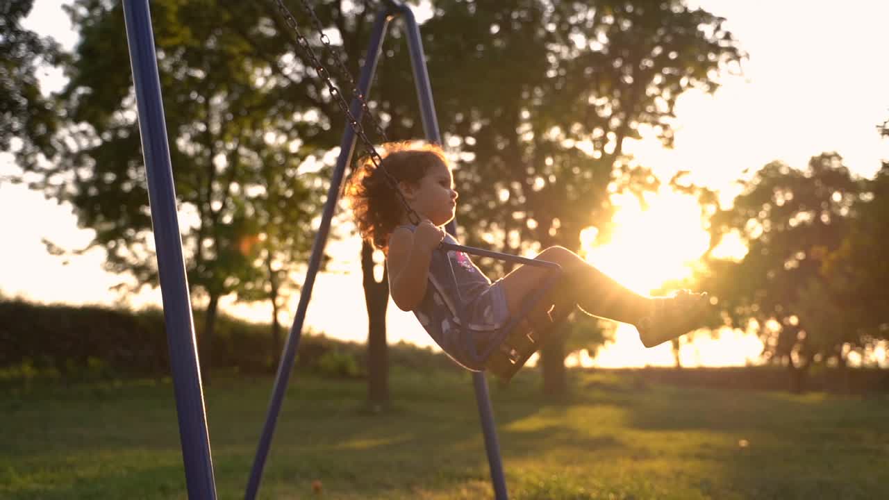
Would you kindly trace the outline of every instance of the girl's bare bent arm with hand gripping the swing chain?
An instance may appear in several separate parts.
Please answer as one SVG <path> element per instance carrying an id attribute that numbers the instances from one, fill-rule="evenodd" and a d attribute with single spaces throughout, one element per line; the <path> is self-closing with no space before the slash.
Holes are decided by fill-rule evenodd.
<path id="1" fill-rule="evenodd" d="M 429 227 L 424 227 L 428 225 Z M 439 234 L 440 233 L 440 234 Z M 421 223 L 415 233 L 395 230 L 389 237 L 389 294 L 400 310 L 414 310 L 426 294 L 432 250 L 445 238 L 445 231 Z"/>

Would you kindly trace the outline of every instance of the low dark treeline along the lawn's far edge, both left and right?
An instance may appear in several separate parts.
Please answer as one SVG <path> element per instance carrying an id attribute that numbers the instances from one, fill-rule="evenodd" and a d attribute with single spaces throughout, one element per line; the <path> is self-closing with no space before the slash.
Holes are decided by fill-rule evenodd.
<path id="1" fill-rule="evenodd" d="M 201 335 L 201 311 L 195 311 Z M 272 373 L 268 325 L 220 316 L 213 343 L 214 369 L 244 375 Z M 300 339 L 296 370 L 317 375 L 363 377 L 366 346 L 323 335 Z M 456 370 L 441 353 L 407 343 L 389 348 L 392 366 L 417 370 Z M 533 370 L 526 367 L 525 371 Z M 639 384 L 670 383 L 733 391 L 787 391 L 787 367 L 645 367 L 609 370 Z M 21 379 L 90 380 L 170 375 L 161 310 L 123 310 L 99 306 L 42 305 L 0 300 L 0 383 Z M 817 367 L 806 391 L 889 392 L 889 370 Z M 581 389 L 582 391 L 582 389 Z"/>

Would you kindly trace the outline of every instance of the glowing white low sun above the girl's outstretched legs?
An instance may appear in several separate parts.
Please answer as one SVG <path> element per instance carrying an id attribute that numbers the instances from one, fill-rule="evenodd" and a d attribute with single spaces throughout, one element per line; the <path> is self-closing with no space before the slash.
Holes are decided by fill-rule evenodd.
<path id="1" fill-rule="evenodd" d="M 686 278 L 690 264 L 706 252 L 709 235 L 701 227 L 701 206 L 692 196 L 669 188 L 646 193 L 647 208 L 630 194 L 615 195 L 613 238 L 595 246 L 597 230 L 581 233 L 588 262 L 640 294 L 671 279 Z"/>

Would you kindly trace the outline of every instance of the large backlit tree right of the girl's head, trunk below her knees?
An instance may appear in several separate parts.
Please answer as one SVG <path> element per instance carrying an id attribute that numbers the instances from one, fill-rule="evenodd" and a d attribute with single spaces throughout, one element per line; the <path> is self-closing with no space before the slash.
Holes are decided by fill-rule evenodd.
<path id="1" fill-rule="evenodd" d="M 469 245 L 507 253 L 577 250 L 590 225 L 605 241 L 610 188 L 633 176 L 625 141 L 647 128 L 669 145 L 677 97 L 714 90 L 742 57 L 721 18 L 678 1 L 434 5 L 424 44 L 461 149 L 459 220 Z M 554 337 L 541 351 L 550 393 L 565 390 Z"/>

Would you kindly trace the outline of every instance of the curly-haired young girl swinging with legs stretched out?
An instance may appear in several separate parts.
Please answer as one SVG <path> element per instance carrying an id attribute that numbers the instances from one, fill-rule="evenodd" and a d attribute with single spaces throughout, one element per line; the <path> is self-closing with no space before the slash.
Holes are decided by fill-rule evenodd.
<path id="1" fill-rule="evenodd" d="M 365 159 L 346 186 L 358 230 L 386 254 L 389 291 L 398 308 L 413 311 L 428 334 L 458 363 L 483 369 L 484 362 L 474 357 L 464 335 L 472 335 L 477 352 L 501 343 L 509 334 L 504 326 L 510 315 L 522 310 L 525 298 L 551 271 L 525 265 L 491 283 L 467 254 L 439 248 L 442 241 L 456 243 L 442 229 L 457 207 L 444 151 L 410 143 L 388 143 L 384 149 L 380 168 Z M 383 168 L 419 215 L 419 224 L 411 223 Z M 709 303 L 706 294 L 685 291 L 665 298 L 636 294 L 561 246 L 549 247 L 535 258 L 562 267 L 557 283 L 535 307 L 554 320 L 576 307 L 598 318 L 629 323 L 637 327 L 646 347 L 700 326 L 700 313 Z M 460 302 L 466 304 L 468 325 L 461 324 Z"/>

